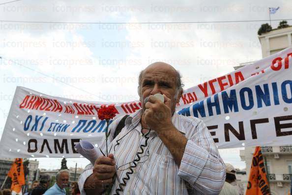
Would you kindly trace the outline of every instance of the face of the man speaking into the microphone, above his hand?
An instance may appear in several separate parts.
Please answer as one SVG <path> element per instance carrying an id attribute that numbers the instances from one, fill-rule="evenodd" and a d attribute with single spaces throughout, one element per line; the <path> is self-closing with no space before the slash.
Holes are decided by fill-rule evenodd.
<path id="1" fill-rule="evenodd" d="M 141 95 L 143 109 L 145 110 L 144 99 L 154 94 L 164 94 L 171 99 L 171 111 L 175 111 L 175 104 L 180 96 L 176 95 L 176 75 L 175 70 L 167 66 L 151 66 L 145 69 L 141 79 Z"/>

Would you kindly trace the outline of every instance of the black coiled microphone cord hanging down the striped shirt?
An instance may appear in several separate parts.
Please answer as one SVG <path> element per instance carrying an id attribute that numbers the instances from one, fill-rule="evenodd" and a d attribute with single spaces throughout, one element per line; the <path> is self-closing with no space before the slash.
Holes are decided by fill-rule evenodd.
<path id="1" fill-rule="evenodd" d="M 144 149 L 147 146 L 147 141 L 149 139 L 149 137 L 147 137 L 147 135 L 149 134 L 149 132 L 150 132 L 150 130 L 144 135 L 145 136 L 145 144 L 144 145 L 143 144 L 140 145 L 141 151 L 136 153 L 137 158 L 134 159 L 134 161 L 131 163 L 131 164 L 134 164 L 134 165 L 130 165 L 130 168 L 129 168 L 130 171 L 126 172 L 126 177 L 122 178 L 122 183 L 118 184 L 118 188 L 116 190 L 116 194 L 115 195 L 119 195 L 119 192 L 123 192 L 124 191 L 123 187 L 126 186 L 127 180 L 130 179 L 130 174 L 134 173 L 133 168 L 137 167 L 137 162 L 139 162 L 141 160 L 140 155 L 144 153 Z"/>

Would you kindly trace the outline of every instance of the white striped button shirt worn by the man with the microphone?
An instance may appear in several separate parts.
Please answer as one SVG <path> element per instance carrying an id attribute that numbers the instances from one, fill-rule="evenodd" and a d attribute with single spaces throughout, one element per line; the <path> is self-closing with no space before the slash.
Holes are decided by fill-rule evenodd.
<path id="1" fill-rule="evenodd" d="M 140 145 L 145 144 L 141 130 L 142 109 L 130 115 L 125 121 L 125 127 L 113 140 L 117 124 L 122 117 L 111 125 L 111 135 L 108 138 L 109 152 L 114 154 L 117 164 L 117 174 L 111 194 L 116 194 L 118 184 L 126 177 L 126 172 Z M 184 154 L 178 167 L 171 152 L 161 141 L 154 130 L 149 137 L 142 158 L 134 173 L 130 174 L 123 193 L 130 195 L 187 195 L 187 194 L 219 194 L 225 182 L 225 165 L 215 146 L 210 132 L 203 121 L 195 117 L 186 117 L 174 113 L 173 125 L 188 139 Z M 118 141 L 117 141 L 118 140 Z M 117 144 L 117 142 L 119 144 Z M 103 140 L 102 151 L 106 151 Z M 81 194 L 86 179 L 93 173 L 93 165 L 89 164 L 79 177 Z"/>

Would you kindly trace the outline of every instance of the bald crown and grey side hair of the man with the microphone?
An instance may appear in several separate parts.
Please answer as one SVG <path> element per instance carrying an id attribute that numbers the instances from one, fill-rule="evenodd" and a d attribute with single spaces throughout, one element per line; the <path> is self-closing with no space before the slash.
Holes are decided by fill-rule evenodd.
<path id="1" fill-rule="evenodd" d="M 174 75 L 174 79 L 176 82 L 176 91 L 182 91 L 184 84 L 181 82 L 181 76 L 180 73 L 172 66 L 164 62 L 155 62 L 150 65 L 148 65 L 144 70 L 142 70 L 139 74 L 139 86 L 138 86 L 138 94 L 141 95 L 141 83 L 142 78 L 145 72 L 151 71 L 151 70 L 159 70 L 164 69 L 165 71 L 169 72 L 170 75 Z M 173 77 L 170 77 L 169 79 L 172 79 Z"/>

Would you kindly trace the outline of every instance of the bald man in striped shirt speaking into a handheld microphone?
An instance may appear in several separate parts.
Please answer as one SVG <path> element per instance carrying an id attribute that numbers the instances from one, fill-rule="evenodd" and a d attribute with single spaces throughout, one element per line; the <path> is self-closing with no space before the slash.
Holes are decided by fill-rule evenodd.
<path id="1" fill-rule="evenodd" d="M 89 164 L 79 177 L 83 195 L 219 194 L 225 166 L 203 121 L 178 115 L 183 84 L 177 70 L 153 63 L 139 75 L 142 109 L 110 126 L 110 155 Z M 153 96 L 161 94 L 164 102 Z M 114 138 L 114 139 L 113 139 Z M 105 140 L 101 150 L 105 151 Z"/>

